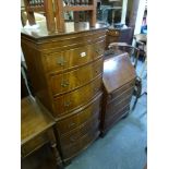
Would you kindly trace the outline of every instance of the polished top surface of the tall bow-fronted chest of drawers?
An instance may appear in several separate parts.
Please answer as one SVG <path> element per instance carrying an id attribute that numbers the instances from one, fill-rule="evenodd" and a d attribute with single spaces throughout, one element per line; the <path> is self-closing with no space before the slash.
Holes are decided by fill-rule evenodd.
<path id="1" fill-rule="evenodd" d="M 38 39 L 60 37 L 63 35 L 79 34 L 79 33 L 96 31 L 96 29 L 105 29 L 108 27 L 107 24 L 102 24 L 102 23 L 96 23 L 95 27 L 89 27 L 88 22 L 80 22 L 80 23 L 68 22 L 68 23 L 65 23 L 65 32 L 64 33 L 58 33 L 58 32 L 49 33 L 47 31 L 45 23 L 39 23 L 38 25 L 39 25 L 39 27 L 37 27 L 37 28 L 31 28 L 31 27 L 22 28 L 21 29 L 22 36 L 26 36 L 34 40 L 38 40 Z"/>

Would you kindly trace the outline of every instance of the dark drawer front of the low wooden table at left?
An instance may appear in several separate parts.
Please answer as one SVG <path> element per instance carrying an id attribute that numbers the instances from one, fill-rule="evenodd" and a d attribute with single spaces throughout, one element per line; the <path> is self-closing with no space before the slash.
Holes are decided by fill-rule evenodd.
<path id="1" fill-rule="evenodd" d="M 25 156 L 29 155 L 31 153 L 35 152 L 36 149 L 41 147 L 47 142 L 49 142 L 49 140 L 48 140 L 48 136 L 46 133 L 43 133 L 43 134 L 34 137 L 33 140 L 28 141 L 21 147 L 22 157 L 25 157 Z"/>

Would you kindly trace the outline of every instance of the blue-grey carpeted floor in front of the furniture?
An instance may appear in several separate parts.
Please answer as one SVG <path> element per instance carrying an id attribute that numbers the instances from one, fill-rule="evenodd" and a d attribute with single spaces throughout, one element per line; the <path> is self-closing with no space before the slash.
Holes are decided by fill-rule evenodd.
<path id="1" fill-rule="evenodd" d="M 140 75 L 143 63 L 138 61 Z M 143 75 L 146 92 L 146 70 Z M 131 106 L 134 98 L 131 102 Z M 143 169 L 146 164 L 147 96 L 144 94 L 128 118 L 119 121 L 104 138 L 98 138 L 65 169 Z"/>

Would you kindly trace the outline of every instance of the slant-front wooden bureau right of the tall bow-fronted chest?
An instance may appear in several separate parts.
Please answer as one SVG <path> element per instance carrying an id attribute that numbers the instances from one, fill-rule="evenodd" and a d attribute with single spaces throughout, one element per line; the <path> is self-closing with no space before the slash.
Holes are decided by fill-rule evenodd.
<path id="1" fill-rule="evenodd" d="M 104 61 L 101 135 L 130 111 L 135 77 L 135 69 L 128 53 Z"/>

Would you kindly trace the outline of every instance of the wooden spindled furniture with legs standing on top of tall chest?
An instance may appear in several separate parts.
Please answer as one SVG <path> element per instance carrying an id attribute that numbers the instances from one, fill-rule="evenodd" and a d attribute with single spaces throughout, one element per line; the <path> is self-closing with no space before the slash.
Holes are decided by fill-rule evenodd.
<path id="1" fill-rule="evenodd" d="M 67 2 L 63 5 L 63 2 Z M 50 33 L 64 32 L 64 12 L 73 11 L 74 15 L 79 11 L 89 11 L 89 26 L 96 24 L 96 0 L 24 0 L 27 20 L 31 25 L 36 24 L 34 12 L 43 12 L 46 16 L 47 29 Z"/>

